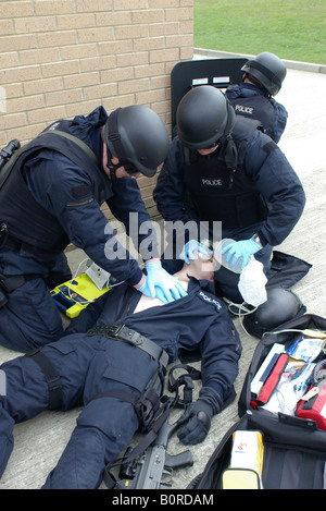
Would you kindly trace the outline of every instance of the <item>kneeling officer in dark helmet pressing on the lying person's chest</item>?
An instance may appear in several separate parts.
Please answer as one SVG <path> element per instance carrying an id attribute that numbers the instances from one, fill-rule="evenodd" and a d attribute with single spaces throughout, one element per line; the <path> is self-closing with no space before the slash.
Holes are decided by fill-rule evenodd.
<path id="1" fill-rule="evenodd" d="M 139 232 L 150 217 L 134 178 L 153 177 L 167 150 L 167 131 L 151 109 L 129 106 L 108 117 L 99 107 L 51 124 L 9 160 L 0 179 L 1 344 L 28 351 L 62 336 L 47 282 L 70 277 L 63 255 L 70 242 L 146 295 L 170 302 L 186 294 L 161 266 L 153 228 Z M 140 251 L 147 275 L 114 238 L 100 209 L 104 202 Z"/>

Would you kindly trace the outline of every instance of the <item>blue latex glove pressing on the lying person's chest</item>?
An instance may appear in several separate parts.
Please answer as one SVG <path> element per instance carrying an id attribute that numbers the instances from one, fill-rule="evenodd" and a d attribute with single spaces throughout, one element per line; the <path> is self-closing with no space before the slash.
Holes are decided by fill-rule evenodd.
<path id="1" fill-rule="evenodd" d="M 170 303 L 188 294 L 181 282 L 162 268 L 160 260 L 147 263 L 146 269 L 146 281 L 138 291 L 147 296 Z"/>

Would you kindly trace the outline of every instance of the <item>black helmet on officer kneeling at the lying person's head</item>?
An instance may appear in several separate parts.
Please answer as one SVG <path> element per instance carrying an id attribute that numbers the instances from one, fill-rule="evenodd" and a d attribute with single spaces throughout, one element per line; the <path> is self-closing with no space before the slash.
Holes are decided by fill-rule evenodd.
<path id="1" fill-rule="evenodd" d="M 177 134 L 190 149 L 206 149 L 227 136 L 235 124 L 235 111 L 225 95 L 211 85 L 189 90 L 180 100 Z"/>

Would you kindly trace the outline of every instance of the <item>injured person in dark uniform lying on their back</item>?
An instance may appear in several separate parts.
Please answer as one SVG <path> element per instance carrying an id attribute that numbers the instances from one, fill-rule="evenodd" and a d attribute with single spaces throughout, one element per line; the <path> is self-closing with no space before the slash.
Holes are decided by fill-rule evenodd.
<path id="1" fill-rule="evenodd" d="M 214 263 L 185 264 L 176 277 L 188 294 L 167 304 L 117 285 L 72 321 L 59 341 L 2 364 L 0 475 L 13 449 L 15 423 L 47 409 L 84 405 L 42 488 L 98 488 L 105 465 L 141 429 L 137 403 L 142 392 L 151 381 L 158 399 L 162 396 L 162 372 L 180 349 L 200 350 L 202 388 L 178 437 L 185 445 L 204 440 L 231 393 L 241 354 L 238 332 L 214 294 Z"/>

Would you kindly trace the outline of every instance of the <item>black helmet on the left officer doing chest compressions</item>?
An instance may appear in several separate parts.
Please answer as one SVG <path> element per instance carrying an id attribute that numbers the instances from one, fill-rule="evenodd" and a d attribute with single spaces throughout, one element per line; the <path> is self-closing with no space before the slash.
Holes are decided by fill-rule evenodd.
<path id="1" fill-rule="evenodd" d="M 163 121 L 141 105 L 118 108 L 109 115 L 105 142 L 112 155 L 149 178 L 165 160 L 170 144 Z"/>

